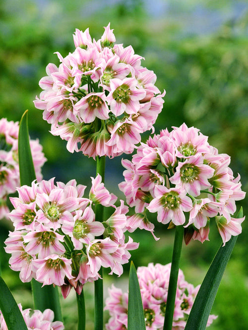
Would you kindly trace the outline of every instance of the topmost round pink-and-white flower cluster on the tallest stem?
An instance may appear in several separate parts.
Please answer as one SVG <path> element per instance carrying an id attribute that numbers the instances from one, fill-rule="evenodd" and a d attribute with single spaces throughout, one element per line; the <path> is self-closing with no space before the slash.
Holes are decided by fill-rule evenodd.
<path id="1" fill-rule="evenodd" d="M 154 86 L 156 75 L 141 66 L 131 46 L 115 44 L 110 24 L 98 41 L 88 29 L 76 29 L 73 38 L 72 53 L 63 58 L 57 52 L 59 67 L 48 64 L 36 108 L 70 152 L 93 158 L 131 153 L 140 134 L 153 129 L 165 92 Z"/>

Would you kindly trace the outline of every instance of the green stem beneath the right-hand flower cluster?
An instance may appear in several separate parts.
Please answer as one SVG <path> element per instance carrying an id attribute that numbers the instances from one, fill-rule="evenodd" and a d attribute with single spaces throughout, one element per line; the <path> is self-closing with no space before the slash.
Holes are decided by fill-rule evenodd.
<path id="1" fill-rule="evenodd" d="M 176 298 L 177 284 L 178 284 L 179 263 L 180 263 L 182 245 L 183 245 L 183 238 L 184 238 L 184 227 L 176 226 L 170 281 L 169 281 L 167 303 L 165 309 L 165 322 L 164 322 L 163 330 L 172 329 L 175 298 Z"/>

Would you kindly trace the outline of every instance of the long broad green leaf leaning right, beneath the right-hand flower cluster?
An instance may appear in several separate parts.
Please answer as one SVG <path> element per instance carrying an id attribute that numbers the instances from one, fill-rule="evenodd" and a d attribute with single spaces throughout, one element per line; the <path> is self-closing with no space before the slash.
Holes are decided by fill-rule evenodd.
<path id="1" fill-rule="evenodd" d="M 243 217 L 241 208 L 237 218 Z M 222 276 L 230 259 L 238 236 L 232 236 L 225 246 L 220 246 L 209 270 L 196 295 L 190 311 L 185 330 L 205 330 L 215 296 L 217 294 Z"/>

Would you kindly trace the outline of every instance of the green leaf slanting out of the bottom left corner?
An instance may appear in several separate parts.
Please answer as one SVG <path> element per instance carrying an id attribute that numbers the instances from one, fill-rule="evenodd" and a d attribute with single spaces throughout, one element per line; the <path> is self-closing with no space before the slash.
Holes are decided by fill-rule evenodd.
<path id="1" fill-rule="evenodd" d="M 6 283 L 0 277 L 0 310 L 8 330 L 28 330 L 19 307 Z"/>

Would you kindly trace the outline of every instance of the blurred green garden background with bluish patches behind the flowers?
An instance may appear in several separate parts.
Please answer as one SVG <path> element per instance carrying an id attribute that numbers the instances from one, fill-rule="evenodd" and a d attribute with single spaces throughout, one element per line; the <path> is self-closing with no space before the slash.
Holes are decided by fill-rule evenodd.
<path id="1" fill-rule="evenodd" d="M 59 64 L 55 51 L 66 56 L 73 51 L 72 34 L 87 27 L 96 40 L 103 26 L 111 22 L 117 43 L 132 45 L 145 57 L 142 65 L 157 75 L 156 86 L 166 90 L 165 104 L 155 125 L 160 129 L 186 122 L 209 136 L 210 144 L 231 156 L 235 176 L 241 174 L 242 188 L 248 188 L 248 1 L 239 0 L 2 0 L 0 2 L 0 117 L 19 121 L 29 109 L 30 136 L 39 138 L 46 157 L 44 179 L 67 182 L 75 178 L 88 185 L 95 176 L 94 161 L 82 154 L 70 154 L 65 142 L 49 133 L 50 125 L 35 109 L 39 80 L 49 62 Z M 148 134 L 143 135 L 146 141 Z M 121 158 L 107 160 L 106 186 L 121 198 Z M 238 203 L 248 211 L 248 199 Z M 171 261 L 173 232 L 156 224 L 155 242 L 147 232 L 131 236 L 140 241 L 132 252 L 136 267 L 149 262 Z M 31 307 L 29 283 L 8 268 L 3 240 L 11 229 L 0 223 L 0 260 L 3 277 L 17 302 Z M 213 330 L 248 329 L 248 225 L 243 223 L 233 255 L 220 285 L 212 314 L 219 315 Z M 181 269 L 186 281 L 197 285 L 221 244 L 214 226 L 210 241 L 190 242 L 183 247 Z M 151 254 L 152 251 L 152 254 Z M 128 265 L 121 278 L 105 276 L 107 286 L 115 282 L 127 290 Z M 92 284 L 86 284 L 87 328 L 93 329 Z M 74 292 L 62 300 L 65 329 L 76 329 Z M 108 315 L 106 314 L 106 318 Z M 237 321 L 238 320 L 238 321 Z"/>

